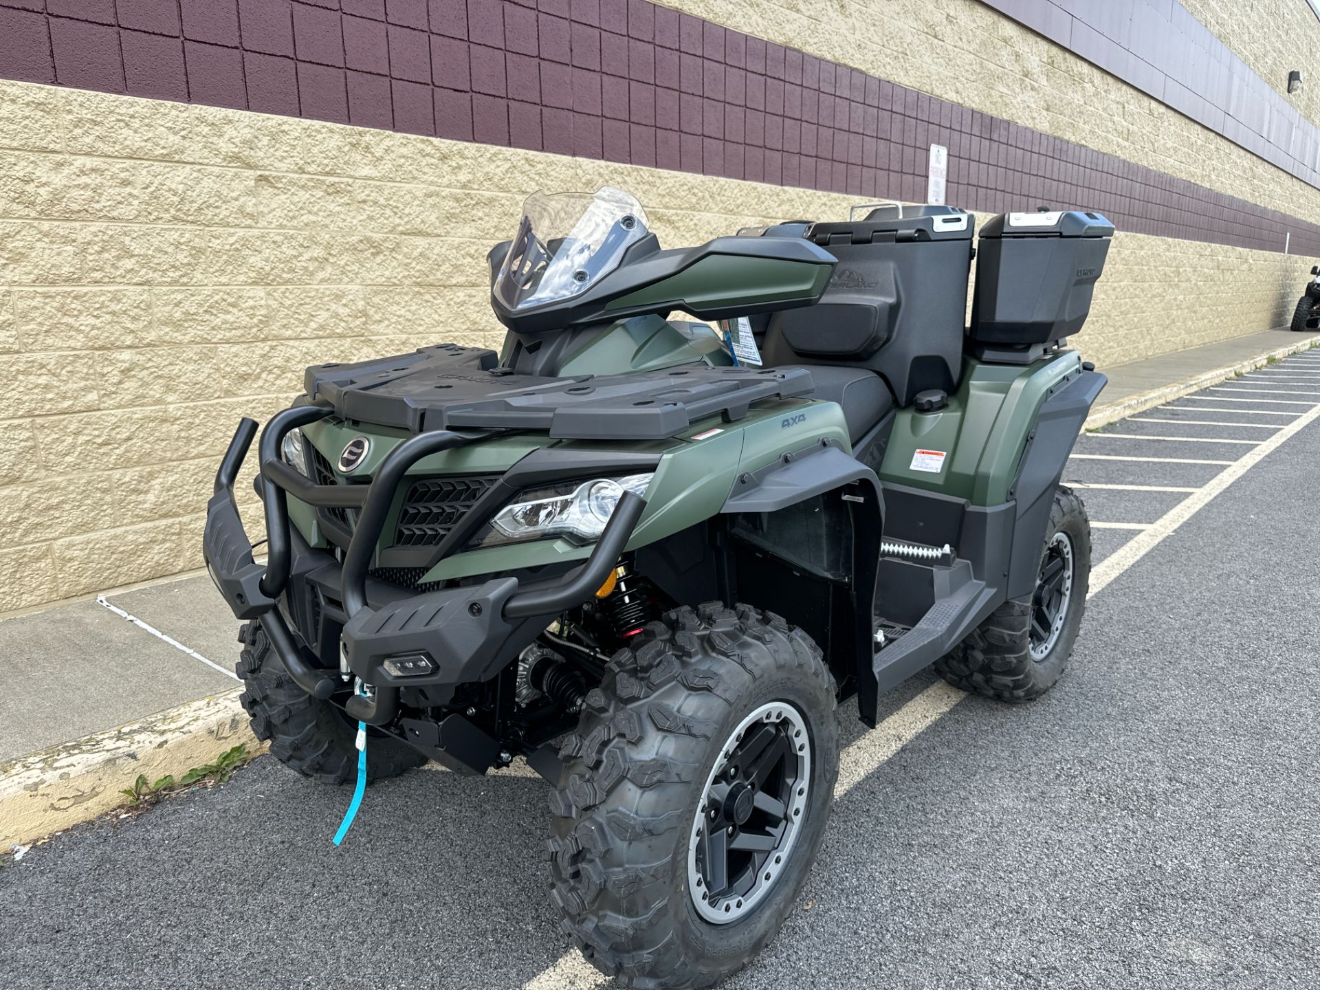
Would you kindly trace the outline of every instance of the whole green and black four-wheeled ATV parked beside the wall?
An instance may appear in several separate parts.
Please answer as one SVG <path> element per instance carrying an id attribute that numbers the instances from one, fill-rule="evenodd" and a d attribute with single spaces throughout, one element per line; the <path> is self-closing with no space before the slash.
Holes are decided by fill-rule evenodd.
<path id="1" fill-rule="evenodd" d="M 265 424 L 264 564 L 240 424 L 205 553 L 253 731 L 335 783 L 525 758 L 586 957 L 718 982 L 803 890 L 838 700 L 875 725 L 931 665 L 1014 702 L 1063 672 L 1090 529 L 1059 479 L 1105 378 L 1061 342 L 1111 235 L 990 220 L 968 329 L 961 210 L 661 249 L 620 190 L 531 197 L 488 256 L 499 355 L 312 367 Z"/>

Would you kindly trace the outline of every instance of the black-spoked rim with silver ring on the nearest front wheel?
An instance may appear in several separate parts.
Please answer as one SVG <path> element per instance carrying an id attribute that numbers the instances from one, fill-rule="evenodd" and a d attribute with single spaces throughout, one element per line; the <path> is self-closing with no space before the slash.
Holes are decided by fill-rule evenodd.
<path id="1" fill-rule="evenodd" d="M 748 714 L 721 747 L 688 849 L 688 890 L 705 920 L 727 924 L 770 892 L 807 817 L 807 719 L 784 701 Z"/>

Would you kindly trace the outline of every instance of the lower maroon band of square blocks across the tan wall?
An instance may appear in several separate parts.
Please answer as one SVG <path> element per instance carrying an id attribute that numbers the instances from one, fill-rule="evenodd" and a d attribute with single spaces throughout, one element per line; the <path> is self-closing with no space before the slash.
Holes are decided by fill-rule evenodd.
<path id="1" fill-rule="evenodd" d="M 1320 256 L 1320 226 L 647 0 L 0 0 L 0 77 Z"/>

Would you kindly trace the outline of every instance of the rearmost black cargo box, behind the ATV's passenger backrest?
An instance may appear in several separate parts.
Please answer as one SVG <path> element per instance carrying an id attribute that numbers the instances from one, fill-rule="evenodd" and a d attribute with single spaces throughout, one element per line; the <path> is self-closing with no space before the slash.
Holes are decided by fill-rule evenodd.
<path id="1" fill-rule="evenodd" d="M 1114 224 L 1098 213 L 1010 213 L 981 230 L 972 327 L 977 343 L 1030 347 L 1081 330 Z"/>

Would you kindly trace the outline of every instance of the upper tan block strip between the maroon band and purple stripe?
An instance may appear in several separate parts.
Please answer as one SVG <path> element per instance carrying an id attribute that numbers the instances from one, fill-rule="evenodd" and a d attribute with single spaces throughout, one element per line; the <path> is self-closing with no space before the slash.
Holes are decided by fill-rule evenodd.
<path id="1" fill-rule="evenodd" d="M 1237 4 L 1238 18 L 1269 18 L 1298 1 Z M 1288 215 L 1320 216 L 1320 190 L 979 0 L 667 5 L 1217 193 Z M 1270 44 L 1288 42 L 1278 37 Z"/>

